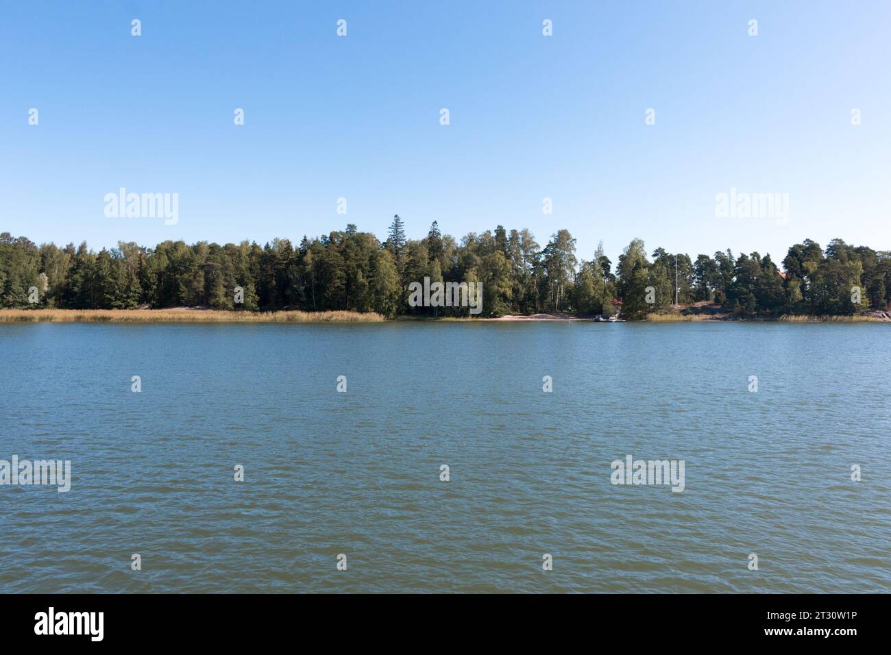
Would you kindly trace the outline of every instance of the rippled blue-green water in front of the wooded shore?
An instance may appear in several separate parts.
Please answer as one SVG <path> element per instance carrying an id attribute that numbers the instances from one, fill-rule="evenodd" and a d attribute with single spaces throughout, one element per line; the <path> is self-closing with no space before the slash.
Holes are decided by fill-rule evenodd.
<path id="1" fill-rule="evenodd" d="M 0 592 L 888 591 L 889 358 L 874 323 L 0 325 L 0 459 L 73 478 L 0 487 Z"/>

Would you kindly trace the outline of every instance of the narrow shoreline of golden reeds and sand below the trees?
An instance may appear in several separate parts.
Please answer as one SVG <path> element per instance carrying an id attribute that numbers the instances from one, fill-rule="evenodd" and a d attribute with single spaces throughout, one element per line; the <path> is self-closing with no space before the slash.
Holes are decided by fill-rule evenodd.
<path id="1" fill-rule="evenodd" d="M 374 312 L 248 312 L 194 307 L 168 309 L 0 309 L 0 323 L 594 323 L 594 317 L 566 313 L 503 315 L 496 318 L 399 316 Z M 652 314 L 629 323 L 891 323 L 883 312 L 871 315 L 781 315 L 777 317 L 720 314 Z"/>

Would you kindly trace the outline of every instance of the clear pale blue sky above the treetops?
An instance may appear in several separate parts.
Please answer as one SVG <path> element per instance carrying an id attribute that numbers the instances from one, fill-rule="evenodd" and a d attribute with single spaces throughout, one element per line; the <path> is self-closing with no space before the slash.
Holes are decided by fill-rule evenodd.
<path id="1" fill-rule="evenodd" d="M 383 239 L 398 213 L 614 261 L 891 249 L 887 0 L 0 7 L 0 231 L 36 242 Z M 178 193 L 178 223 L 105 217 L 119 187 Z M 731 188 L 789 193 L 788 223 L 715 217 Z"/>

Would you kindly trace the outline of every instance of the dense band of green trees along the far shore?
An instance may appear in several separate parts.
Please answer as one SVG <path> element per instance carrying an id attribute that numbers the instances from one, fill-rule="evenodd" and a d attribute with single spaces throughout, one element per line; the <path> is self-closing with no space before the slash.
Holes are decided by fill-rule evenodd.
<path id="1" fill-rule="evenodd" d="M 86 242 L 37 245 L 0 233 L 0 306 L 72 309 L 212 307 L 245 311 L 376 311 L 397 315 L 468 315 L 467 307 L 409 307 L 408 285 L 482 282 L 481 315 L 577 312 L 631 319 L 681 305 L 716 303 L 740 315 L 850 315 L 885 310 L 891 300 L 891 253 L 832 240 L 789 248 L 781 267 L 770 255 L 731 250 L 648 256 L 634 239 L 613 262 L 602 243 L 576 257 L 568 230 L 541 247 L 527 229 L 470 233 L 461 242 L 436 222 L 421 240 L 405 237 L 393 218 L 384 242 L 356 225 L 297 246 L 275 239 L 259 246 L 182 241 L 154 248 L 119 242 L 90 250 Z M 236 296 L 236 287 L 241 295 Z M 855 291 L 856 290 L 856 291 Z M 236 300 L 243 300 L 236 302 Z"/>

